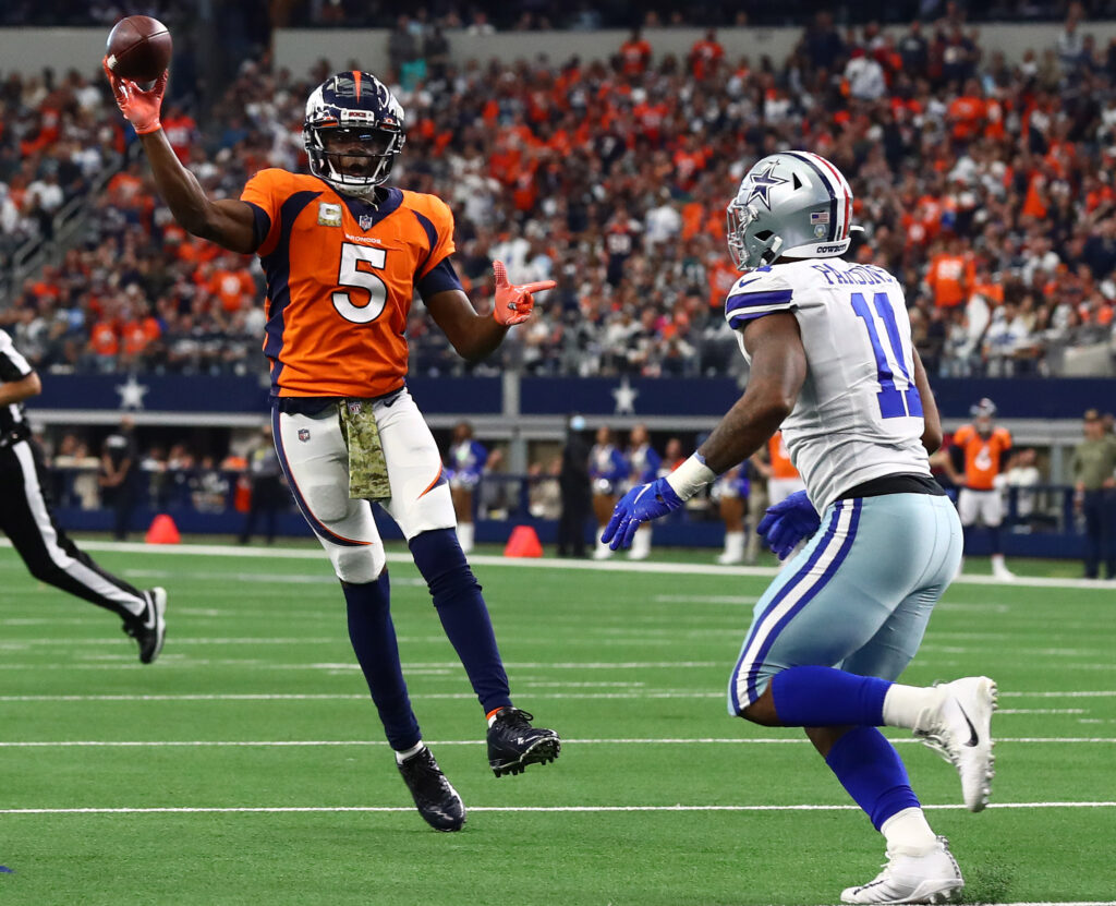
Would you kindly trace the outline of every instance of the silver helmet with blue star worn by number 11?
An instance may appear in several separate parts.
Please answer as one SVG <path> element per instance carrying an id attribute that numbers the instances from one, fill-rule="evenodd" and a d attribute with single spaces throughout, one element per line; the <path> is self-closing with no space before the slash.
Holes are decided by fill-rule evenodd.
<path id="1" fill-rule="evenodd" d="M 757 163 L 729 203 L 729 253 L 738 270 L 779 258 L 834 258 L 849 244 L 853 190 L 825 157 L 782 151 Z"/>

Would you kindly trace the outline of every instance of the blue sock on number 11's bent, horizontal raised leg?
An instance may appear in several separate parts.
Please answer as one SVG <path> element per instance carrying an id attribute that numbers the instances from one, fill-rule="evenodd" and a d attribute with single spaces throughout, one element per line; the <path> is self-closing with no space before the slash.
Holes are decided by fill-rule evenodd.
<path id="1" fill-rule="evenodd" d="M 771 680 L 783 726 L 883 726 L 887 680 L 833 667 L 790 667 Z"/>

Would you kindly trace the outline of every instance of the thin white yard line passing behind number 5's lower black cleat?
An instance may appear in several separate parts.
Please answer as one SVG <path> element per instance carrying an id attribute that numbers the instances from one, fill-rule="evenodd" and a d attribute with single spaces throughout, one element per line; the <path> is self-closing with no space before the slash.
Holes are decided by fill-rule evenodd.
<path id="1" fill-rule="evenodd" d="M 964 811 L 961 803 L 923 806 L 935 811 Z M 1116 802 L 991 802 L 989 809 L 1110 809 Z M 406 812 L 414 806 L 162 806 L 151 808 L 0 809 L 0 815 L 251 815 L 305 812 Z M 470 812 L 599 813 L 639 811 L 860 811 L 853 804 L 793 806 L 473 806 Z M 1066 906 L 1061 904 L 1061 906 Z"/>

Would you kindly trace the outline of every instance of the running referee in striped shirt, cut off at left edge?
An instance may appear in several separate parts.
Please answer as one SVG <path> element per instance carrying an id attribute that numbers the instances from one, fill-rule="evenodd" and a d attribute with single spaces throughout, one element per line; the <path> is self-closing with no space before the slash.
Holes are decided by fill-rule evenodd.
<path id="1" fill-rule="evenodd" d="M 166 591 L 140 591 L 105 571 L 55 522 L 42 450 L 23 414 L 23 401 L 41 389 L 35 369 L 0 330 L 0 530 L 35 578 L 119 615 L 140 659 L 151 664 L 163 648 Z"/>

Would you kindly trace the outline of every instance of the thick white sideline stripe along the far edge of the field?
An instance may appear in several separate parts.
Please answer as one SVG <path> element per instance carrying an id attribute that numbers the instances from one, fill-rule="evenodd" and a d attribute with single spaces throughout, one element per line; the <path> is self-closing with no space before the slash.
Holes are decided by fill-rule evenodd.
<path id="1" fill-rule="evenodd" d="M 80 540 L 85 550 L 118 551 L 122 553 L 167 553 L 195 557 L 240 557 L 244 559 L 318 560 L 324 566 L 325 555 L 315 548 L 243 548 L 233 544 L 146 544 L 134 541 Z M 0 548 L 11 547 L 7 539 L 0 539 Z M 674 574 L 680 576 L 753 576 L 771 578 L 779 574 L 776 567 L 724 567 L 714 563 L 676 563 L 643 560 L 564 560 L 555 557 L 533 559 L 498 557 L 489 553 L 472 555 L 470 563 L 484 567 L 514 567 L 519 569 L 578 569 L 597 572 L 643 572 Z M 410 563 L 407 553 L 388 553 L 389 563 Z M 323 575 L 328 576 L 328 571 Z M 276 577 L 281 580 L 282 577 Z M 992 576 L 961 575 L 953 585 L 994 585 L 1013 588 L 1081 588 L 1112 594 L 1116 586 L 1112 582 L 1089 579 L 1055 579 L 1037 576 L 1019 576 L 1014 581 L 1003 582 Z"/>

